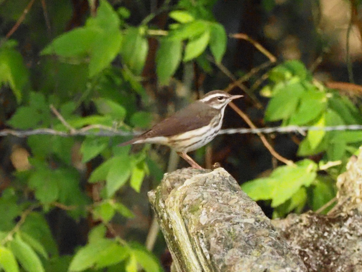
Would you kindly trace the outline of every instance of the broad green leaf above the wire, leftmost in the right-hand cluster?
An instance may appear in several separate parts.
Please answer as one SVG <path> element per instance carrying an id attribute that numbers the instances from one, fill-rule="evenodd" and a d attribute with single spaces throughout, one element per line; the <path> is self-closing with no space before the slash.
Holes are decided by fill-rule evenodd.
<path id="1" fill-rule="evenodd" d="M 304 92 L 304 87 L 299 82 L 291 83 L 279 90 L 269 101 L 265 111 L 265 120 L 276 121 L 289 118 L 294 114 Z"/>

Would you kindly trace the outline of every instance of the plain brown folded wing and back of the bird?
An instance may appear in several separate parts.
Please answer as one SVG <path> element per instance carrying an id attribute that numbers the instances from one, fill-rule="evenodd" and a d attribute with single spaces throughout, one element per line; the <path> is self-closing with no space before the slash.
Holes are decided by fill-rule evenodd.
<path id="1" fill-rule="evenodd" d="M 177 111 L 174 115 L 154 125 L 149 131 L 138 136 L 138 139 L 157 136 L 171 136 L 203 127 L 210 123 L 218 110 L 196 101 L 188 107 Z"/>

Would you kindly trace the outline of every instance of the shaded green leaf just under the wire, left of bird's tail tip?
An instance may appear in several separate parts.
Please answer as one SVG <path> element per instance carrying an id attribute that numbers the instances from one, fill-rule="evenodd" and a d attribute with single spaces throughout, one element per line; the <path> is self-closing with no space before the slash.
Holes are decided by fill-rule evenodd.
<path id="1" fill-rule="evenodd" d="M 88 136 L 84 139 L 80 152 L 83 154 L 82 162 L 87 162 L 101 153 L 109 144 L 108 137 Z"/>

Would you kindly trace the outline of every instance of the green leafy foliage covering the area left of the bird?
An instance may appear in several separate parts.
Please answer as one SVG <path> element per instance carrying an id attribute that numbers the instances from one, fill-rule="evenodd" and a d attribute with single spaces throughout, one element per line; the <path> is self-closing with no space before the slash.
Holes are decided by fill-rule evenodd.
<path id="1" fill-rule="evenodd" d="M 148 128 L 152 115 L 138 111 L 136 104 L 140 97 L 144 108 L 148 106 L 140 77 L 149 53 L 148 38 L 159 40 L 156 73 L 160 84 L 168 84 L 181 61 L 197 61 L 202 55 L 205 58 L 207 47 L 216 62 L 221 62 L 226 50 L 226 32 L 214 20 L 212 4 L 207 1 L 196 6 L 180 1 L 169 12 L 169 30 L 161 31 L 161 35 L 146 19 L 130 25 L 130 11 L 125 7 L 115 10 L 106 0 L 99 1 L 96 14 L 89 15 L 83 26 L 65 32 L 70 18 L 60 18 L 58 11 L 67 11 L 69 4 L 49 5 L 57 34 L 51 42 L 44 36 L 32 37 L 42 48 L 36 67 L 25 66 L 17 41 L 4 40 L 0 46 L 0 87 L 8 86 L 19 103 L 7 120 L 14 129 L 51 127 L 68 131 L 86 127 L 97 132 L 102 126 L 125 131 L 130 126 Z M 8 13 L 2 13 L 4 18 L 12 12 L 21 13 L 25 7 L 7 8 Z M 30 28 L 37 20 L 31 14 L 25 22 Z M 58 109 L 66 123 L 54 115 L 50 105 Z M 146 160 L 147 146 L 130 153 L 129 146 L 117 146 L 125 140 L 54 135 L 26 139 L 31 167 L 14 172 L 13 184 L 0 197 L 0 207 L 7 211 L 0 219 L 0 267 L 4 271 L 162 270 L 145 248 L 109 234 L 114 218 L 134 217 L 119 201 L 117 192 L 128 185 L 140 192 L 144 177 L 150 175 L 149 167 L 154 173 L 160 172 L 160 166 Z M 80 161 L 74 161 L 77 153 L 81 154 Z M 86 176 L 85 167 L 92 170 Z M 100 188 L 99 199 L 87 192 L 85 180 L 89 186 L 97 184 L 94 188 Z M 73 256 L 59 255 L 46 222 L 58 208 L 75 221 L 90 217 L 97 222 L 89 231 L 88 243 Z"/>

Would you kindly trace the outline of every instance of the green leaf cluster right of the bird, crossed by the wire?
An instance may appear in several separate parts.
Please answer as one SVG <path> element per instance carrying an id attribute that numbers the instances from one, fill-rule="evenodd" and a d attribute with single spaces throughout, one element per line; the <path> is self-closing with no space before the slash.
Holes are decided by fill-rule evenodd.
<path id="1" fill-rule="evenodd" d="M 303 63 L 288 61 L 273 68 L 270 83 L 261 93 L 271 97 L 265 112 L 266 121 L 282 121 L 282 125 L 362 124 L 357 107 L 345 96 L 312 79 Z M 341 161 L 339 168 L 327 169 L 333 178 L 344 171 L 349 157 L 362 144 L 361 131 L 311 130 L 300 142 L 299 156 L 323 153 L 319 166 Z M 283 217 L 293 210 L 302 211 L 307 202 L 317 210 L 334 197 L 334 185 L 310 160 L 296 166 L 280 166 L 268 178 L 258 178 L 242 186 L 254 200 L 271 200 L 274 217 Z M 308 199 L 308 195 L 310 196 Z"/>

